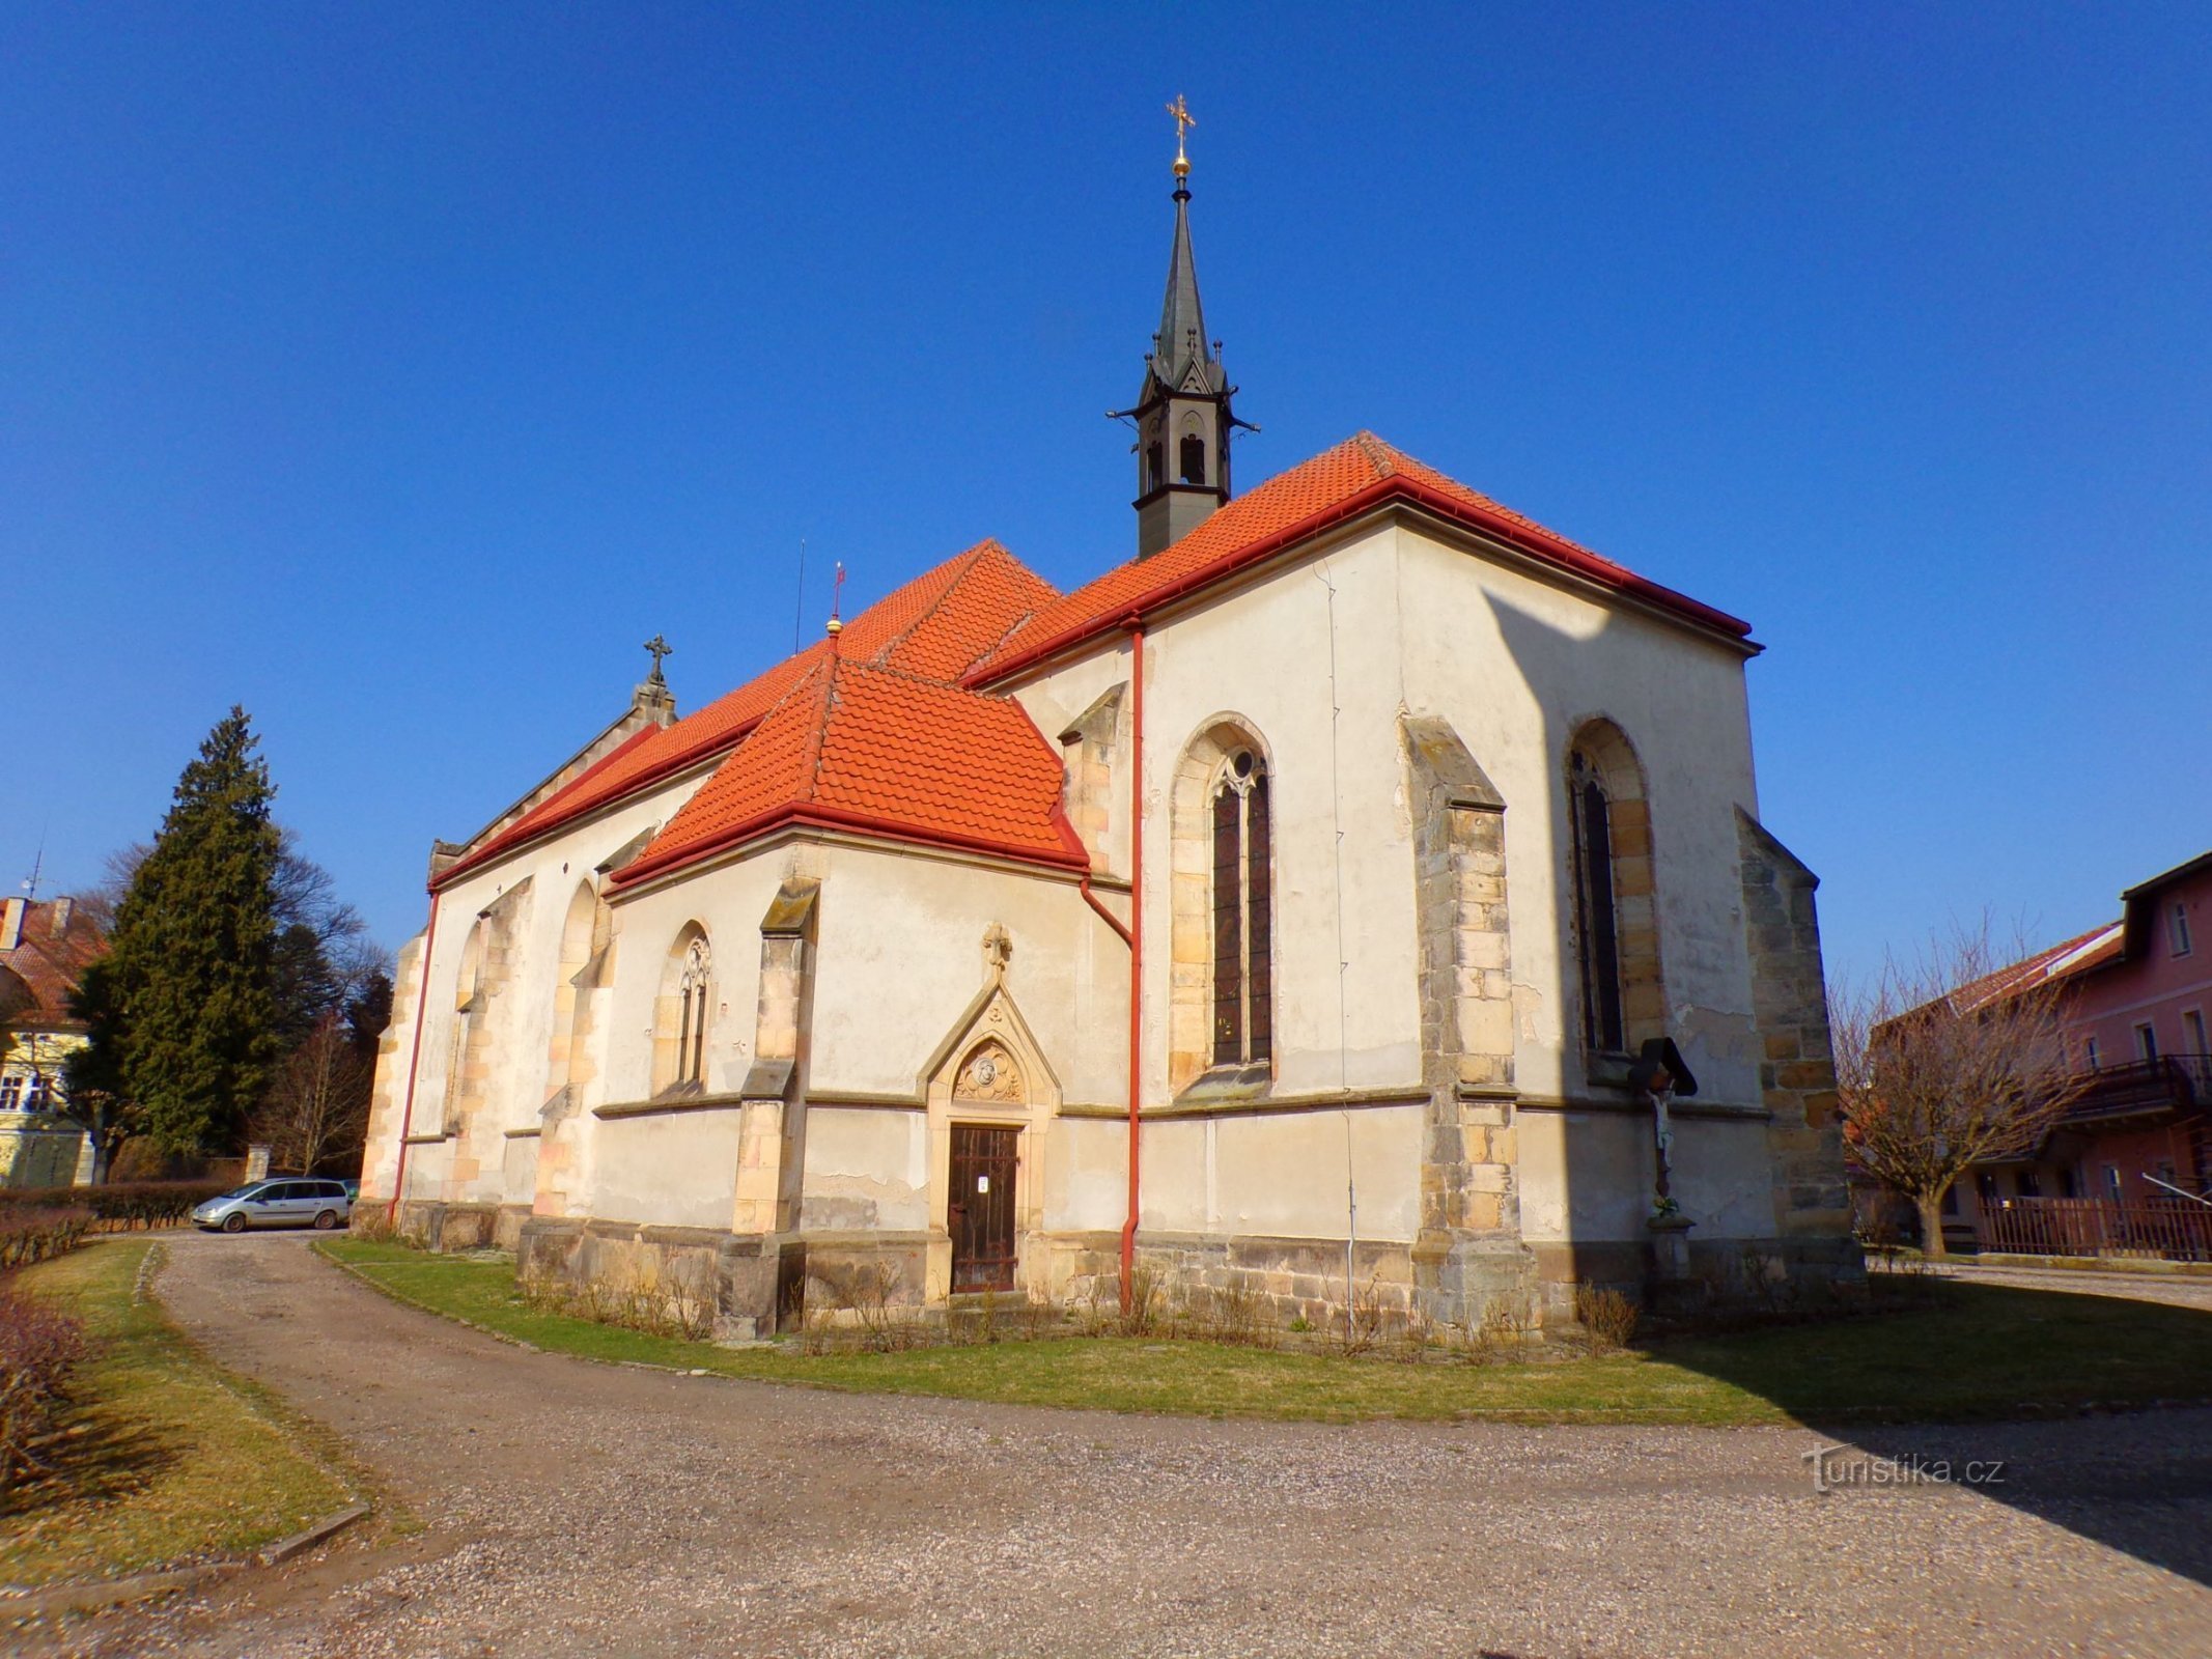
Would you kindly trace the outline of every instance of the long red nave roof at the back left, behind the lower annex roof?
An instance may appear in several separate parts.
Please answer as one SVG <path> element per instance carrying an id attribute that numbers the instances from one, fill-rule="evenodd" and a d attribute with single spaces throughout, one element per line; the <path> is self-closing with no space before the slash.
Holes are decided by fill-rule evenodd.
<path id="1" fill-rule="evenodd" d="M 1026 615 L 1055 597 L 1057 588 L 1004 546 L 978 542 L 856 615 L 838 635 L 836 655 L 847 664 L 958 679 Z M 445 887 L 586 812 L 728 752 L 830 659 L 830 641 L 818 639 L 706 708 L 670 726 L 637 732 L 449 865 L 431 885 Z"/>

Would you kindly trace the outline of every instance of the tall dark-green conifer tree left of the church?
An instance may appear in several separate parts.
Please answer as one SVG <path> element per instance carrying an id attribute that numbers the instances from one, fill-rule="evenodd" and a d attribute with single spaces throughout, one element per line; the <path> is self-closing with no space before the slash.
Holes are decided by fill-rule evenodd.
<path id="1" fill-rule="evenodd" d="M 228 1150 L 281 1048 L 276 790 L 257 748 L 243 708 L 208 732 L 115 909 L 122 1079 L 173 1152 Z"/>

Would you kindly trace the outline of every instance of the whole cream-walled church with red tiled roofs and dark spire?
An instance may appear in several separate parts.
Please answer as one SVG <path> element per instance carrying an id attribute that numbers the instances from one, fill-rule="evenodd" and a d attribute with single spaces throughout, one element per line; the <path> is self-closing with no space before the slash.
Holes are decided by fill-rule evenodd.
<path id="1" fill-rule="evenodd" d="M 1234 493 L 1188 173 L 1135 557 L 978 542 L 690 714 L 655 639 L 434 845 L 363 1208 L 723 1336 L 1858 1272 L 1750 626 L 1367 431 Z"/>

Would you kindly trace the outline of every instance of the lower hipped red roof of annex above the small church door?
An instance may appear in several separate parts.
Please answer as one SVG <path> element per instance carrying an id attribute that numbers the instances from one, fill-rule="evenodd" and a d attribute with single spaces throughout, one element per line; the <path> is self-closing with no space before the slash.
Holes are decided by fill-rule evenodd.
<path id="1" fill-rule="evenodd" d="M 615 874 L 666 874 L 785 823 L 1086 867 L 1062 765 L 1011 697 L 834 655 Z"/>

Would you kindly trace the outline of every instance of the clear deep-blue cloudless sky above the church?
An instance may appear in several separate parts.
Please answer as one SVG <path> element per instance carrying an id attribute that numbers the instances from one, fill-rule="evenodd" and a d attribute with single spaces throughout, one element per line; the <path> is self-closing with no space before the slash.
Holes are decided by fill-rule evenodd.
<path id="1" fill-rule="evenodd" d="M 1124 557 L 1177 91 L 1241 478 L 1374 427 L 1747 615 L 1832 969 L 2212 845 L 2201 4 L 27 2 L 7 885 L 243 701 L 396 945 L 641 639 L 790 648 L 801 538 Z"/>

